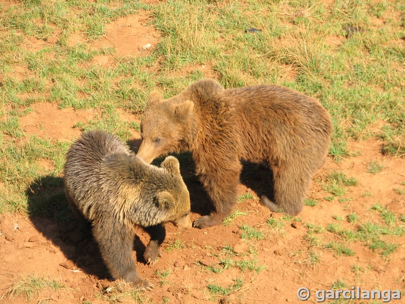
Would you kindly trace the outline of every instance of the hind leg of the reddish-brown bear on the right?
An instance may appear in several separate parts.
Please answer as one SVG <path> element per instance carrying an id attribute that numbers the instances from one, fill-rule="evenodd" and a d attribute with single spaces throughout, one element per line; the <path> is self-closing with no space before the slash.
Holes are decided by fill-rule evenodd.
<path id="1" fill-rule="evenodd" d="M 297 169 L 294 165 L 272 167 L 274 181 L 274 202 L 266 196 L 261 197 L 261 203 L 271 211 L 282 211 L 289 215 L 297 215 L 303 206 L 305 193 L 311 176 L 306 170 Z"/>

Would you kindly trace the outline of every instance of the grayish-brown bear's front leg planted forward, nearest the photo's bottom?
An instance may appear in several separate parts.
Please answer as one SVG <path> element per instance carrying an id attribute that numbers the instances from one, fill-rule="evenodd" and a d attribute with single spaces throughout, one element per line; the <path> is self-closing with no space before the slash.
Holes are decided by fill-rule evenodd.
<path id="1" fill-rule="evenodd" d="M 151 290 L 154 286 L 143 280 L 136 271 L 132 257 L 135 230 L 112 216 L 103 216 L 93 222 L 93 234 L 101 256 L 114 280 L 124 279 L 136 288 Z"/>

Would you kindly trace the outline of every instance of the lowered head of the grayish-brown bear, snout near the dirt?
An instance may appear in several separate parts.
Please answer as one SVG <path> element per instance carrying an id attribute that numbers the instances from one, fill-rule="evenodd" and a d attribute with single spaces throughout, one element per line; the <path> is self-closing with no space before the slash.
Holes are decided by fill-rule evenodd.
<path id="1" fill-rule="evenodd" d="M 160 165 L 171 177 L 167 190 L 155 194 L 159 208 L 166 209 L 167 221 L 173 222 L 179 230 L 191 227 L 190 195 L 180 174 L 179 161 L 168 156 Z"/>

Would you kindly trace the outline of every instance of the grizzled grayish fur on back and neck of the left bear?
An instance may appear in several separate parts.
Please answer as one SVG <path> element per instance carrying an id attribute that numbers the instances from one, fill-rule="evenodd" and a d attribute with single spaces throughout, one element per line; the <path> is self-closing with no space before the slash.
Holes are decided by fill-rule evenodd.
<path id="1" fill-rule="evenodd" d="M 174 219 L 153 202 L 157 191 L 184 193 L 180 175 L 146 164 L 118 137 L 102 131 L 84 133 L 72 144 L 64 182 L 70 203 L 86 219 L 102 215 L 142 226 Z"/>

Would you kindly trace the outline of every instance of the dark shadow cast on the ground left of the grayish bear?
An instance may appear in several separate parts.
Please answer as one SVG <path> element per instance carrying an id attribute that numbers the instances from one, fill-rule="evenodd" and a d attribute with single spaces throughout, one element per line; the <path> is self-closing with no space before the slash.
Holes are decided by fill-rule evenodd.
<path id="1" fill-rule="evenodd" d="M 111 280 L 92 237 L 90 223 L 75 217 L 68 207 L 63 178 L 52 175 L 39 177 L 27 188 L 26 196 L 30 220 L 38 232 L 83 272 L 98 279 Z M 136 260 L 146 263 L 143 258 L 145 245 L 138 236 L 134 239 L 134 250 Z"/>

